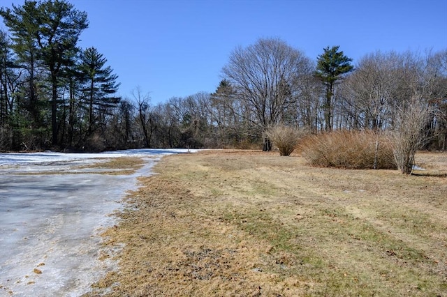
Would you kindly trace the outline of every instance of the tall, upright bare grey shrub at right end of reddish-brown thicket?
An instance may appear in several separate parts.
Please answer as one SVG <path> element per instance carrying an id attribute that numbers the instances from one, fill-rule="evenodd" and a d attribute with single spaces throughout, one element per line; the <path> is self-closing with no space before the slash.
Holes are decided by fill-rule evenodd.
<path id="1" fill-rule="evenodd" d="M 433 110 L 420 98 L 413 97 L 403 107 L 396 107 L 394 128 L 391 132 L 393 154 L 402 174 L 413 172 L 414 155 L 427 142 L 425 128 Z"/>

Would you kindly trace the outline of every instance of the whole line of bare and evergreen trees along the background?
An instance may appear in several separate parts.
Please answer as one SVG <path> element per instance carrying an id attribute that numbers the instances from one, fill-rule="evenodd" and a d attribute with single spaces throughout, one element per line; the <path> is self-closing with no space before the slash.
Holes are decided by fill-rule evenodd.
<path id="1" fill-rule="evenodd" d="M 95 47 L 78 47 L 87 13 L 66 1 L 1 8 L 0 150 L 262 147 L 276 125 L 312 134 L 386 131 L 427 107 L 426 148 L 447 146 L 447 49 L 374 52 L 355 65 L 339 46 L 311 59 L 279 38 L 237 47 L 214 93 L 152 105 Z M 402 119 L 406 122 L 401 123 Z"/>

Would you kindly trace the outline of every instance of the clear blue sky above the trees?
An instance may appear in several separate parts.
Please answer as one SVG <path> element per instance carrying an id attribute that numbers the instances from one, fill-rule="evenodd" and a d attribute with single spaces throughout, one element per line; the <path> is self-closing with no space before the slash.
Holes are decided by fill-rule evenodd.
<path id="1" fill-rule="evenodd" d="M 447 49 L 447 0 L 68 0 L 87 12 L 94 46 L 152 103 L 213 92 L 235 47 L 281 38 L 315 60 L 340 45 L 356 63 L 376 50 Z M 18 0 L 0 0 L 22 4 Z"/>

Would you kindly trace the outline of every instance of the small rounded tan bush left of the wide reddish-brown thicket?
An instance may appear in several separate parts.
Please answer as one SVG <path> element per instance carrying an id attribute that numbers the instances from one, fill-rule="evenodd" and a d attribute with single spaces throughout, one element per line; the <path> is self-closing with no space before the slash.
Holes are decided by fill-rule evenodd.
<path id="1" fill-rule="evenodd" d="M 304 136 L 304 133 L 302 130 L 286 125 L 275 125 L 265 132 L 265 135 L 277 146 L 279 155 L 287 156 L 291 155 L 295 150 L 298 141 Z"/>

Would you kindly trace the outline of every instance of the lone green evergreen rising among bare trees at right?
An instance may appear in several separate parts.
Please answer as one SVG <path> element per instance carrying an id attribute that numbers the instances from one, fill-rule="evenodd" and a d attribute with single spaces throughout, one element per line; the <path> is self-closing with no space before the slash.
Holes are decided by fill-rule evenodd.
<path id="1" fill-rule="evenodd" d="M 342 79 L 345 73 L 353 70 L 352 59 L 339 51 L 339 46 L 326 47 L 323 54 L 316 60 L 316 77 L 325 85 L 325 102 L 323 104 L 325 114 L 325 130 L 332 130 L 332 101 L 335 84 Z"/>

